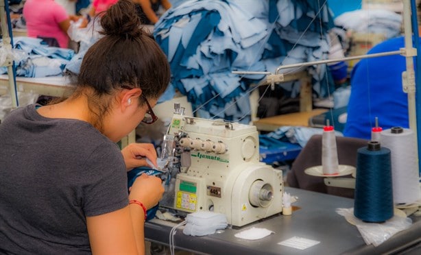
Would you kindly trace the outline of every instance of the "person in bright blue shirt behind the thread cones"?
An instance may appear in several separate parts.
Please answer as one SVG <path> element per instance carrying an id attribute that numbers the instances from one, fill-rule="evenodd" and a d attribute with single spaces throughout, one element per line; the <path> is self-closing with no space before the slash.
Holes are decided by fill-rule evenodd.
<path id="1" fill-rule="evenodd" d="M 398 51 L 405 47 L 405 38 L 385 40 L 368 54 Z M 370 139 L 375 119 L 383 130 L 409 127 L 408 95 L 402 88 L 405 57 L 400 55 L 360 60 L 352 69 L 351 95 L 344 136 Z"/>

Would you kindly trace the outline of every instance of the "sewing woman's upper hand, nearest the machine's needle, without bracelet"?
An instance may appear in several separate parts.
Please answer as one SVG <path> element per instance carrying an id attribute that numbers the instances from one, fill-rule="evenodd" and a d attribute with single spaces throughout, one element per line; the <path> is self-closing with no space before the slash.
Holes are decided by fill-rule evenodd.
<path id="1" fill-rule="evenodd" d="M 152 143 L 130 143 L 121 150 L 121 154 L 123 154 L 127 171 L 134 169 L 134 167 L 157 167 L 156 150 Z M 149 165 L 146 158 L 154 166 Z"/>

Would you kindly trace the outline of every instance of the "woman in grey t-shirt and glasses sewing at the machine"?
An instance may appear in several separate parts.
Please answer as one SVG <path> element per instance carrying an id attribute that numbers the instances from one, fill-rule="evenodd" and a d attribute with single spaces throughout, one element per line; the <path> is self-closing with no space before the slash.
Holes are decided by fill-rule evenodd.
<path id="1" fill-rule="evenodd" d="M 129 193 L 127 171 L 146 158 L 156 165 L 156 151 L 116 143 L 156 121 L 169 64 L 131 0 L 100 22 L 104 37 L 86 52 L 74 93 L 17 108 L 0 125 L 0 254 L 145 253 L 146 211 L 164 189 L 141 175 Z"/>

